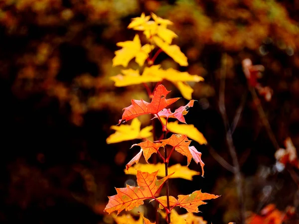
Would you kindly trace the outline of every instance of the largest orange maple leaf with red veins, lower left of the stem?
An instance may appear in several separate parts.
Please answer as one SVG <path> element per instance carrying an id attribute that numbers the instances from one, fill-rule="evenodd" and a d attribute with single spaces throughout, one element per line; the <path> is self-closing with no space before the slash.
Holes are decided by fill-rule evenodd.
<path id="1" fill-rule="evenodd" d="M 127 185 L 126 188 L 116 188 L 117 195 L 110 196 L 109 202 L 104 210 L 109 214 L 117 211 L 117 215 L 123 211 L 130 211 L 135 207 L 144 204 L 146 199 L 154 199 L 154 195 L 159 193 L 163 183 L 172 175 L 157 180 L 157 172 L 137 172 L 138 187 Z"/>

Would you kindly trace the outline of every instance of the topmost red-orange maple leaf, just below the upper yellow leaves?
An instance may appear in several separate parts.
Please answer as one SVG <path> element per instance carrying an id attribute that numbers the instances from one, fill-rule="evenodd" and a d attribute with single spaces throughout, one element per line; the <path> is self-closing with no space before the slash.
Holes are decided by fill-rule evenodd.
<path id="1" fill-rule="evenodd" d="M 122 121 L 131 120 L 143 114 L 157 114 L 159 111 L 168 107 L 179 99 L 172 98 L 166 100 L 168 93 L 170 93 L 170 91 L 167 91 L 166 88 L 160 84 L 155 89 L 150 103 L 144 100 L 132 100 L 132 105 L 123 109 L 124 113 L 122 119 L 119 120 L 119 123 Z"/>

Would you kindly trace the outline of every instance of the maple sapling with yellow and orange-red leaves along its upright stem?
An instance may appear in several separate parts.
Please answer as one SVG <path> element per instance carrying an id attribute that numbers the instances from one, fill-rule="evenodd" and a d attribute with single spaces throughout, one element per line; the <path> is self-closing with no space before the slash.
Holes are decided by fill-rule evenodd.
<path id="1" fill-rule="evenodd" d="M 149 199 L 150 202 L 157 202 L 158 207 L 156 209 L 168 224 L 187 224 L 186 220 L 182 221 L 182 218 L 176 214 L 175 207 L 184 208 L 187 211 L 185 216 L 188 223 L 197 222 L 199 219 L 202 220 L 202 218 L 194 216 L 192 213 L 198 213 L 198 206 L 206 204 L 205 200 L 216 199 L 219 196 L 202 193 L 200 190 L 194 191 L 189 195 L 178 195 L 177 198 L 169 195 L 169 178 L 192 180 L 193 175 L 200 174 L 200 172 L 192 171 L 188 168 L 192 158 L 201 166 L 201 175 L 204 175 L 204 163 L 201 160 L 201 153 L 194 146 L 190 146 L 191 140 L 188 137 L 199 144 L 207 143 L 202 133 L 194 125 L 186 124 L 184 118 L 184 115 L 187 114 L 189 108 L 193 107 L 195 102 L 191 96 L 193 89 L 187 82 L 200 82 L 203 81 L 203 78 L 198 75 L 190 75 L 187 72 L 179 72 L 172 68 L 163 70 L 161 65 L 154 65 L 156 57 L 161 52 L 166 53 L 180 66 L 188 65 L 187 57 L 181 52 L 180 48 L 177 45 L 171 45 L 172 39 L 177 37 L 173 31 L 167 28 L 167 25 L 171 24 L 171 21 L 162 19 L 154 13 L 151 13 L 151 16 L 146 16 L 145 13 L 142 13 L 140 17 L 132 19 L 128 28 L 142 31 L 148 43 L 142 45 L 139 34 L 135 35 L 133 41 L 117 43 L 117 46 L 122 47 L 122 49 L 115 52 L 113 66 L 121 65 L 127 67 L 134 58 L 140 67 L 143 67 L 146 62 L 147 66 L 143 69 L 142 75 L 140 75 L 139 70 L 123 69 L 121 70 L 122 74 L 111 77 L 111 80 L 115 82 L 117 87 L 143 84 L 148 92 L 150 102 L 143 99 L 131 100 L 132 104 L 123 109 L 123 115 L 119 119 L 118 125 L 111 127 L 116 132 L 107 138 L 108 144 L 136 138 L 143 139 L 143 141 L 131 146 L 131 148 L 140 147 L 140 151 L 128 162 L 125 169 L 126 174 L 137 176 L 138 186 L 127 185 L 125 188 L 116 188 L 117 194 L 108 197 L 109 202 L 104 211 L 109 214 L 116 211 L 118 215 L 124 210 L 130 211 L 143 205 L 144 201 Z M 150 56 L 153 51 L 155 51 L 155 54 Z M 163 80 L 170 81 L 189 102 L 174 112 L 167 109 L 180 98 L 167 98 L 171 91 L 168 91 L 162 85 Z M 150 89 L 148 83 L 155 83 L 153 90 Z M 153 125 L 141 129 L 141 122 L 138 120 L 138 117 L 144 114 L 151 114 L 152 124 L 156 119 L 160 122 L 163 134 L 159 138 L 155 136 L 156 132 Z M 176 121 L 168 122 L 168 119 L 176 119 Z M 124 124 L 130 120 L 132 120 L 131 124 Z M 166 134 L 169 132 L 172 132 L 172 134 L 166 138 Z M 166 147 L 171 148 L 169 153 Z M 160 149 L 163 149 L 163 155 Z M 187 157 L 187 166 L 176 164 L 168 167 L 174 151 Z M 153 153 L 158 155 L 163 164 L 149 164 L 149 158 Z M 148 164 L 139 164 L 142 155 Z M 185 173 L 182 174 L 182 172 Z M 162 178 L 157 179 L 157 176 Z M 166 195 L 159 197 L 164 183 L 166 185 Z M 171 214 L 174 218 L 172 222 L 170 219 Z M 113 217 L 117 223 L 122 222 L 117 216 L 113 215 Z M 126 222 L 129 222 L 131 217 L 123 216 L 123 219 L 127 219 Z M 141 222 L 150 223 L 143 214 L 140 215 L 140 220 Z"/>

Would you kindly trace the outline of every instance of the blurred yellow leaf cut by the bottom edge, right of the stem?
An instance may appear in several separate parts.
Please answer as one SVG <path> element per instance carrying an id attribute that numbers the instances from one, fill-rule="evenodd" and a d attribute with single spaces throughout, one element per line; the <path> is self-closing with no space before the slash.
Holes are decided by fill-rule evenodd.
<path id="1" fill-rule="evenodd" d="M 159 210 L 162 218 L 166 218 L 166 213 Z M 207 224 L 207 221 L 204 221 L 202 217 L 195 216 L 193 213 L 186 213 L 183 215 L 178 215 L 177 212 L 172 209 L 170 212 L 171 215 L 171 224 Z"/>

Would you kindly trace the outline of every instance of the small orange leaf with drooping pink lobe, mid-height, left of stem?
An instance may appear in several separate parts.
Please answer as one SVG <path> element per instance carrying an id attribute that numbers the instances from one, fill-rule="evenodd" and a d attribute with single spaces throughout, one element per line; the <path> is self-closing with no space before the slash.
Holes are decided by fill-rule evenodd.
<path id="1" fill-rule="evenodd" d="M 126 165 L 126 168 L 129 169 L 134 163 L 138 163 L 139 162 L 139 159 L 141 157 L 141 154 L 143 152 L 144 154 L 144 157 L 148 162 L 149 160 L 149 157 L 151 156 L 152 153 L 156 153 L 160 147 L 163 147 L 163 144 L 162 143 L 154 143 L 152 141 L 149 141 L 149 140 L 146 140 L 144 142 L 141 142 L 141 143 L 138 143 L 138 144 L 134 144 L 131 146 L 134 147 L 134 146 L 140 146 L 141 147 L 141 150 L 140 152 Z"/>

